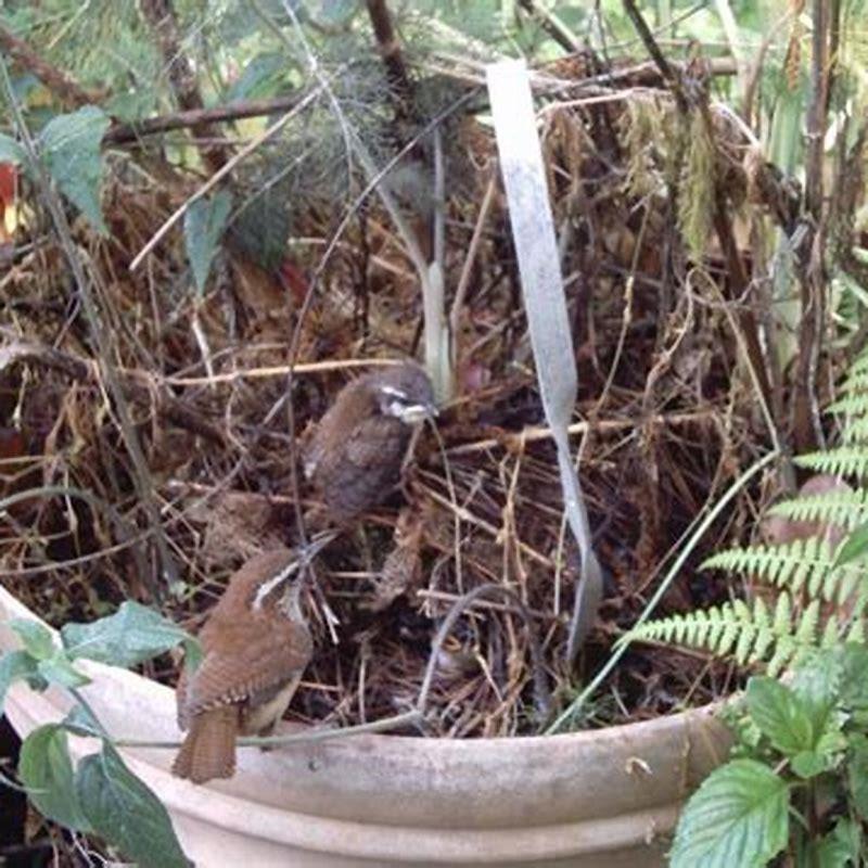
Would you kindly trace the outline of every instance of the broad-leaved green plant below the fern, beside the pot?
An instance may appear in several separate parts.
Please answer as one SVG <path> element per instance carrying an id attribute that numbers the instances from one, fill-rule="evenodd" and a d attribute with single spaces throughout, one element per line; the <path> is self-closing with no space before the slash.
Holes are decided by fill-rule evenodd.
<path id="1" fill-rule="evenodd" d="M 783 684 L 749 680 L 732 712 L 733 758 L 688 802 L 673 868 L 763 866 L 791 843 L 795 865 L 865 865 L 868 650 L 815 651 Z"/>

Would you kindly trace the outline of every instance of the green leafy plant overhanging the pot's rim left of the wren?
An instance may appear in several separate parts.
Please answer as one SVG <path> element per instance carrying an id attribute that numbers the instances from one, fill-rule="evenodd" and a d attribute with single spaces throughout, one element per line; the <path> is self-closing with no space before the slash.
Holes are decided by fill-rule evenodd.
<path id="1" fill-rule="evenodd" d="M 34 690 L 65 688 L 75 700 L 64 720 L 38 727 L 22 744 L 18 777 L 34 806 L 68 829 L 101 837 L 144 868 L 186 868 L 189 861 L 165 807 L 129 770 L 79 692 L 90 678 L 76 663 L 87 659 L 130 667 L 179 643 L 195 662 L 196 641 L 151 609 L 129 601 L 90 624 L 67 624 L 60 644 L 38 621 L 16 620 L 11 626 L 23 649 L 0 656 L 0 712 L 10 686 L 22 680 Z M 69 754 L 71 732 L 102 742 L 99 753 L 77 767 Z"/>

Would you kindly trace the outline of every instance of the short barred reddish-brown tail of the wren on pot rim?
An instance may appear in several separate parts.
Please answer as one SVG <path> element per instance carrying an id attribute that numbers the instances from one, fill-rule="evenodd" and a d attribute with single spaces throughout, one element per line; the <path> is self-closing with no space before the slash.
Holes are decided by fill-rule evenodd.
<path id="1" fill-rule="evenodd" d="M 171 771 L 193 783 L 231 778 L 235 771 L 237 705 L 222 705 L 193 717 Z"/>

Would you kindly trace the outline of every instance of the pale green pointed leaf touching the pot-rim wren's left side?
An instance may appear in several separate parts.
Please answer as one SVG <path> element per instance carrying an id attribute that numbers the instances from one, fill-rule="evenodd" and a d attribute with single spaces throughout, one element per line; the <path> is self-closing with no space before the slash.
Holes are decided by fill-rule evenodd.
<path id="1" fill-rule="evenodd" d="M 141 603 L 128 600 L 113 615 L 90 624 L 66 624 L 61 638 L 73 659 L 88 658 L 115 666 L 136 666 L 145 660 L 191 642 L 177 624 Z"/>

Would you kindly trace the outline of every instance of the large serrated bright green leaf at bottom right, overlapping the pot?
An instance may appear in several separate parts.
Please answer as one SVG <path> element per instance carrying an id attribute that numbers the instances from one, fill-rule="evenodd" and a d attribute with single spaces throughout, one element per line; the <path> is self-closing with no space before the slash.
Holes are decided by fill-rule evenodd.
<path id="1" fill-rule="evenodd" d="M 690 797 L 675 833 L 672 868 L 760 868 L 789 834 L 787 783 L 755 760 L 712 771 Z"/>

